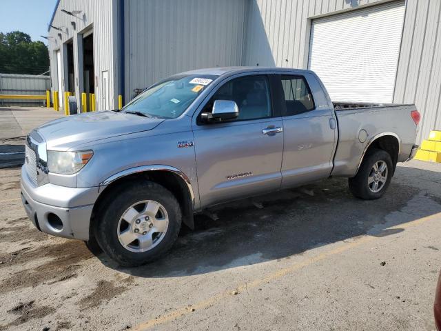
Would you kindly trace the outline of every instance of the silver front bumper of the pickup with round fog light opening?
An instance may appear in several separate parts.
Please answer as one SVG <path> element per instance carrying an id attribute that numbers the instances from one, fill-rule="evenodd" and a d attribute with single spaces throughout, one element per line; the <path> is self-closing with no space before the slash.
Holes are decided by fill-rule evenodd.
<path id="1" fill-rule="evenodd" d="M 90 217 L 99 188 L 34 186 L 21 168 L 21 201 L 26 214 L 42 232 L 57 237 L 89 239 Z"/>

